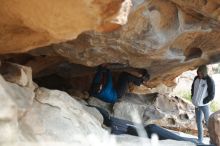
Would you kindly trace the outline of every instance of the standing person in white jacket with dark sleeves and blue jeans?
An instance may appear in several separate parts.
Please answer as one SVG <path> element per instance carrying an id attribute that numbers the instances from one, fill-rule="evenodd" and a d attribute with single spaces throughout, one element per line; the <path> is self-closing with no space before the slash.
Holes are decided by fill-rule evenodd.
<path id="1" fill-rule="evenodd" d="M 199 66 L 197 69 L 197 76 L 193 80 L 191 94 L 192 103 L 195 106 L 198 141 L 203 143 L 202 114 L 204 114 L 207 126 L 210 116 L 209 104 L 215 96 L 215 84 L 207 73 L 206 65 Z"/>

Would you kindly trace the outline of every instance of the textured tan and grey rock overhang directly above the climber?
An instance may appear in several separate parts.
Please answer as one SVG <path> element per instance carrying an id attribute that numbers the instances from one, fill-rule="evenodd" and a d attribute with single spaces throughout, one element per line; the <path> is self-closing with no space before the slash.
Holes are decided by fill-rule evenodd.
<path id="1" fill-rule="evenodd" d="M 218 0 L 132 3 L 128 22 L 115 31 L 87 31 L 71 41 L 37 48 L 29 54 L 38 58 L 36 64 L 43 56 L 44 60 L 61 57 L 58 64 L 68 60 L 85 66 L 120 63 L 147 68 L 151 74 L 148 87 L 161 83 L 173 86 L 182 72 L 220 61 Z M 38 70 L 37 65 L 33 67 Z"/>

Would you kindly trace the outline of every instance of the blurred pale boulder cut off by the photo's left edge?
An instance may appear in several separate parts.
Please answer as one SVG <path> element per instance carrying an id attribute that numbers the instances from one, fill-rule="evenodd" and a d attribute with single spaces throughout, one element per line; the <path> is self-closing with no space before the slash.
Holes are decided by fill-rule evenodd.
<path id="1" fill-rule="evenodd" d="M 32 106 L 33 89 L 5 81 L 0 75 L 0 143 L 16 142 L 20 136 L 18 119 Z"/>

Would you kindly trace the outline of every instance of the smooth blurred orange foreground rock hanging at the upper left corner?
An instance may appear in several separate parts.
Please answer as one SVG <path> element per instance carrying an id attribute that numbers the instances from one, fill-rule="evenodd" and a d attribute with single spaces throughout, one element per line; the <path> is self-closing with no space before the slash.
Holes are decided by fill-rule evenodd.
<path id="1" fill-rule="evenodd" d="M 112 31 L 127 22 L 130 0 L 9 0 L 1 2 L 0 54 Z"/>

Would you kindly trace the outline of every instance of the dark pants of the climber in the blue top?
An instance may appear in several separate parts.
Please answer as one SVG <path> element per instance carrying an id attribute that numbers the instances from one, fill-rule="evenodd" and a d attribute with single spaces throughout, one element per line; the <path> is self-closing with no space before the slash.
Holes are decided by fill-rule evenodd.
<path id="1" fill-rule="evenodd" d="M 116 86 L 118 98 L 122 97 L 128 91 L 129 83 L 134 83 L 135 85 L 140 86 L 142 82 L 142 77 L 136 77 L 127 72 L 122 72 L 119 75 L 118 83 Z"/>

